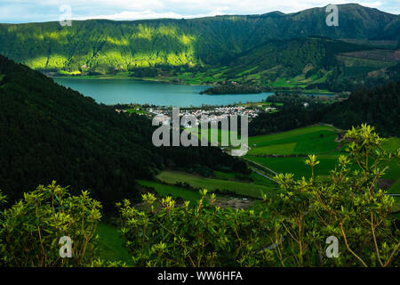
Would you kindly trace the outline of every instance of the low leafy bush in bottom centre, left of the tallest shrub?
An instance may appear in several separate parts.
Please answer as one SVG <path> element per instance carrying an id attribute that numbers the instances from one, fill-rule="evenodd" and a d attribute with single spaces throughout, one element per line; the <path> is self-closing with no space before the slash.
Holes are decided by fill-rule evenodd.
<path id="1" fill-rule="evenodd" d="M 267 240 L 262 211 L 221 209 L 215 195 L 192 208 L 175 208 L 171 197 L 143 195 L 147 210 L 138 211 L 128 200 L 118 204 L 123 237 L 135 266 L 258 266 L 269 253 L 258 252 Z"/>

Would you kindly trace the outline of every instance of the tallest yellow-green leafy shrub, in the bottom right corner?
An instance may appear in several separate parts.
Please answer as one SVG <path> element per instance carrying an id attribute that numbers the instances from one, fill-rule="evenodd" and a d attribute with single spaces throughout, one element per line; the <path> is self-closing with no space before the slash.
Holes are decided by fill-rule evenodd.
<path id="1" fill-rule="evenodd" d="M 391 215 L 394 199 L 378 187 L 392 154 L 382 151 L 383 139 L 371 126 L 353 127 L 344 138 L 348 156 L 340 156 L 327 181 L 314 180 L 313 168 L 319 163 L 315 156 L 306 160 L 310 179 L 276 176 L 283 193 L 268 208 L 281 265 L 399 265 L 400 232 Z M 325 254 L 330 236 L 340 240 L 338 258 Z"/>

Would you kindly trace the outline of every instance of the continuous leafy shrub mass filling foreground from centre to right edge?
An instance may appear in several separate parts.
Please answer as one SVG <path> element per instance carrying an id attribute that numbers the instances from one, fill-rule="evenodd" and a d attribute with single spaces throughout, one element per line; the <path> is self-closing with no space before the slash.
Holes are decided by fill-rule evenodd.
<path id="1" fill-rule="evenodd" d="M 207 196 L 205 190 L 196 208 L 188 201 L 175 208 L 171 197 L 157 201 L 152 194 L 143 195 L 148 206 L 144 211 L 128 200 L 117 204 L 135 265 L 399 265 L 394 199 L 377 183 L 392 154 L 381 150 L 383 140 L 371 126 L 353 128 L 345 140 L 348 156 L 340 156 L 326 180 L 315 179 L 319 161 L 310 155 L 305 161 L 311 168 L 309 179 L 276 175 L 281 192 L 264 195 L 249 210 L 220 208 L 215 195 Z M 337 258 L 325 250 L 332 237 L 339 241 Z"/>

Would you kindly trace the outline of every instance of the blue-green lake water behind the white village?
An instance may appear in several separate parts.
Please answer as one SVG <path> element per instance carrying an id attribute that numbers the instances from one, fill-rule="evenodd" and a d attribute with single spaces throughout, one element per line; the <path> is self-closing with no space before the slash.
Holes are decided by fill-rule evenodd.
<path id="1" fill-rule="evenodd" d="M 210 86 L 174 85 L 131 78 L 54 78 L 54 81 L 85 96 L 91 96 L 96 102 L 108 105 L 116 103 L 148 103 L 174 107 L 228 105 L 236 102 L 260 102 L 272 94 L 201 95 L 199 92 Z"/>

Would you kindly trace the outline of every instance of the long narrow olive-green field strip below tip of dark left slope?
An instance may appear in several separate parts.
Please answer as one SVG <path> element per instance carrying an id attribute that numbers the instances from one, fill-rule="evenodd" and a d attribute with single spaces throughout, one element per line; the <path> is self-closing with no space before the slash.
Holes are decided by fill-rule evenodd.
<path id="1" fill-rule="evenodd" d="M 254 198 L 260 198 L 260 191 L 265 193 L 274 191 L 275 184 L 261 185 L 255 183 L 237 182 L 225 179 L 204 178 L 198 175 L 191 175 L 179 171 L 163 171 L 156 178 L 165 183 L 188 183 L 191 187 L 197 189 L 207 189 L 210 191 L 233 191 L 239 195 L 246 195 Z"/>

